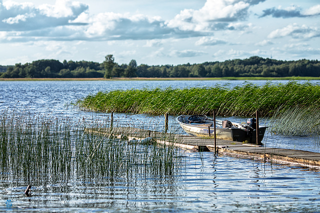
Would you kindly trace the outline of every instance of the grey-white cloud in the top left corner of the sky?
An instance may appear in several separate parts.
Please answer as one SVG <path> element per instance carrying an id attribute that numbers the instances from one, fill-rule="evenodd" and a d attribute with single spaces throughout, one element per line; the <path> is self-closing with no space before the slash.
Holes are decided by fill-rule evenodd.
<path id="1" fill-rule="evenodd" d="M 56 0 L 54 5 L 43 4 L 39 7 L 32 3 L 5 1 L 0 3 L 0 31 L 21 31 L 27 38 L 29 32 L 34 30 L 79 25 L 82 23 L 73 20 L 87 8 L 86 4 L 70 0 Z M 41 36 L 39 33 L 38 36 Z"/>

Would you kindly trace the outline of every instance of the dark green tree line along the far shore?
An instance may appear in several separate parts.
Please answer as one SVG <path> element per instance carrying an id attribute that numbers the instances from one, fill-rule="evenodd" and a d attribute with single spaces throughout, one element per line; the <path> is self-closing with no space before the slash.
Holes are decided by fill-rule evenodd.
<path id="1" fill-rule="evenodd" d="M 320 77 L 318 60 L 282 61 L 252 56 L 224 62 L 149 66 L 132 59 L 129 64 L 117 64 L 113 55 L 102 63 L 91 61 L 38 60 L 32 63 L 1 66 L 6 68 L 1 78 L 113 78 L 113 77 Z"/>

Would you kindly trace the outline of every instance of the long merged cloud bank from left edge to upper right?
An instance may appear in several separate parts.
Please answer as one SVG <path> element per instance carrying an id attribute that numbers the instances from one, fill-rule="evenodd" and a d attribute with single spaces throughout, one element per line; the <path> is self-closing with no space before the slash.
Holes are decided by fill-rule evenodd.
<path id="1" fill-rule="evenodd" d="M 22 41 L 44 40 L 143 40 L 207 35 L 212 30 L 244 30 L 250 24 L 228 23 L 247 16 L 250 5 L 263 0 L 207 0 L 199 10 L 186 9 L 173 20 L 159 16 L 103 12 L 90 15 L 88 5 L 56 0 L 34 6 L 6 1 L 0 4 L 0 31 L 20 31 Z M 181 25 L 173 24 L 181 17 Z M 190 25 L 186 19 L 190 17 Z M 217 21 L 218 20 L 218 21 Z M 212 34 L 212 33 L 210 33 Z M 11 41 L 13 41 L 13 38 Z M 161 45 L 151 41 L 145 46 Z"/>

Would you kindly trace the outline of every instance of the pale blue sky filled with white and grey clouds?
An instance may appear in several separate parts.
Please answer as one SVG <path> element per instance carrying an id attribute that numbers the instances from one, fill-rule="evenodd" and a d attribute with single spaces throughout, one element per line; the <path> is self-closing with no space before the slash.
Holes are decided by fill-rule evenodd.
<path id="1" fill-rule="evenodd" d="M 0 65 L 320 59 L 320 0 L 0 0 Z"/>

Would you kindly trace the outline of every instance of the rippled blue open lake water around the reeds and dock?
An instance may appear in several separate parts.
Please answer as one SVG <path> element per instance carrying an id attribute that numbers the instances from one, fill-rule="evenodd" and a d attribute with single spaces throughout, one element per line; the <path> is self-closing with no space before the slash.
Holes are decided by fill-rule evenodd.
<path id="1" fill-rule="evenodd" d="M 265 81 L 251 81 L 263 85 Z M 286 83 L 287 81 L 278 81 Z M 318 82 L 318 81 L 316 81 Z M 233 87 L 243 81 L 0 81 L 0 109 L 68 116 L 74 120 L 108 118 L 106 113 L 72 109 L 77 99 L 98 91 L 140 88 Z M 274 83 L 274 82 L 271 82 Z M 163 116 L 115 114 L 122 124 L 163 126 Z M 233 117 L 232 121 L 246 118 Z M 263 122 L 263 119 L 261 119 Z M 170 116 L 170 128 L 177 129 Z M 183 133 L 180 130 L 180 133 Z M 1 137 L 1 136 L 0 136 Z M 267 147 L 320 152 L 311 137 L 267 133 Z M 185 152 L 179 175 L 145 177 L 112 185 L 68 180 L 32 187 L 0 180 L 0 212 L 320 212 L 320 171 L 270 164 L 213 153 Z"/>

